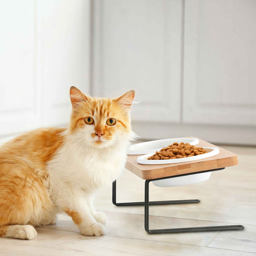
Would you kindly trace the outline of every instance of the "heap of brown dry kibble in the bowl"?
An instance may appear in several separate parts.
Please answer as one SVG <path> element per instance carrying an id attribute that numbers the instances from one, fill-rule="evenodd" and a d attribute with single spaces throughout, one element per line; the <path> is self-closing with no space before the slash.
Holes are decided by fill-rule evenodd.
<path id="1" fill-rule="evenodd" d="M 160 151 L 156 151 L 148 160 L 163 160 L 189 157 L 205 154 L 206 150 L 203 147 L 196 147 L 184 142 L 174 142 L 173 145 L 163 147 Z"/>

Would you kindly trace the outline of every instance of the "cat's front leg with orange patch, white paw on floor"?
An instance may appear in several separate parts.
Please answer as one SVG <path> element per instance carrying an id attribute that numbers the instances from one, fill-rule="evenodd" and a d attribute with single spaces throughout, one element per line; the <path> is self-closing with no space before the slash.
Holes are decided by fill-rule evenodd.
<path id="1" fill-rule="evenodd" d="M 84 195 L 80 193 L 74 193 L 72 200 L 66 202 L 66 205 L 62 207 L 63 210 L 71 216 L 73 222 L 80 229 L 83 235 L 95 235 L 99 237 L 105 234 L 104 225 L 97 223 L 90 211 L 90 206 Z"/>

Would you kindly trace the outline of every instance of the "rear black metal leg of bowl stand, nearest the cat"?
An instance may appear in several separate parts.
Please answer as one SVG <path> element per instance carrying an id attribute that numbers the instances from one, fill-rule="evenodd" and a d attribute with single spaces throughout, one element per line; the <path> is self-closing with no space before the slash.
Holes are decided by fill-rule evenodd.
<path id="1" fill-rule="evenodd" d="M 199 203 L 200 200 L 169 200 L 169 201 L 151 201 L 150 205 L 164 205 L 164 204 L 189 204 Z M 145 205 L 145 202 L 130 202 L 130 203 L 116 203 L 116 180 L 112 184 L 112 203 L 116 206 L 141 206 Z"/>

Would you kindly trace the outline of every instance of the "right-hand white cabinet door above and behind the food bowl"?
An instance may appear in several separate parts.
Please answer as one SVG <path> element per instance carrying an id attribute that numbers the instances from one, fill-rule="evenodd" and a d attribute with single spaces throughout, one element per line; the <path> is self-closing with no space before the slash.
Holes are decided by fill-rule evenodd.
<path id="1" fill-rule="evenodd" d="M 254 0 L 185 1 L 185 123 L 256 125 L 255 13 Z"/>

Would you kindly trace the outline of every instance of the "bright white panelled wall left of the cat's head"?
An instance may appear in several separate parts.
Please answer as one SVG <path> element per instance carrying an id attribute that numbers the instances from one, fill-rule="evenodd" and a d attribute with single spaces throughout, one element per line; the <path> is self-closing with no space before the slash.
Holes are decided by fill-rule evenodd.
<path id="1" fill-rule="evenodd" d="M 66 125 L 68 92 L 90 86 L 90 1 L 0 2 L 0 140 Z"/>

